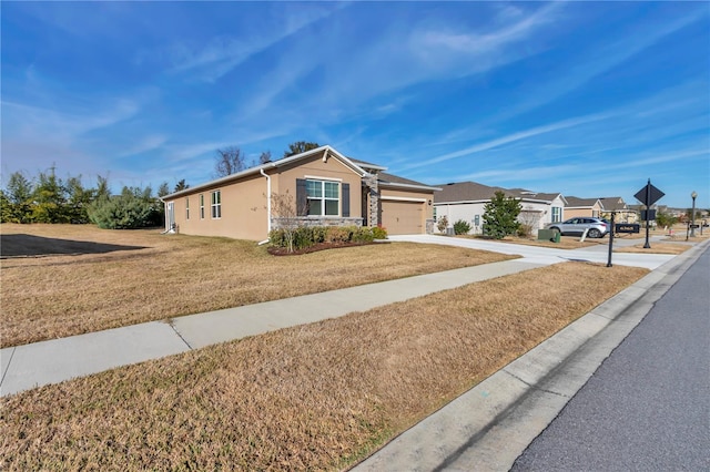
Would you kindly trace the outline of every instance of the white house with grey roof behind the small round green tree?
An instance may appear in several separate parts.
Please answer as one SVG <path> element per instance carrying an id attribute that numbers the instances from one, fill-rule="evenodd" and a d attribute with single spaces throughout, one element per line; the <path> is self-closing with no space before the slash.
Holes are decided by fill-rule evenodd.
<path id="1" fill-rule="evenodd" d="M 471 226 L 473 234 L 481 234 L 484 225 L 484 206 L 490 202 L 496 192 L 507 197 L 518 198 L 523 209 L 518 222 L 529 225 L 532 235 L 548 223 L 561 222 L 565 217 L 567 202 L 559 193 L 539 193 L 525 188 L 489 187 L 475 182 L 459 182 L 438 185 L 442 192 L 434 194 L 434 219 L 446 216 L 449 226 L 463 219 Z"/>

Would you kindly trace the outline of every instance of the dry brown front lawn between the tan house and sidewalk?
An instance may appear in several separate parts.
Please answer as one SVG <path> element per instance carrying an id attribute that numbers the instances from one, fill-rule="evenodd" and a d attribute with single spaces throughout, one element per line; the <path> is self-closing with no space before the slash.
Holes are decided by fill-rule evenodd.
<path id="1" fill-rule="evenodd" d="M 0 229 L 2 347 L 510 258 L 405 243 L 275 257 L 159 230 Z"/>

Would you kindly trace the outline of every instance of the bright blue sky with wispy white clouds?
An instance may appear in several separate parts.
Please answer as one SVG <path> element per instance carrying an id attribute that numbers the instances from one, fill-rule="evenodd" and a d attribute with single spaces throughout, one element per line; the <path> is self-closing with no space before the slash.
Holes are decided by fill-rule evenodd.
<path id="1" fill-rule="evenodd" d="M 710 208 L 707 2 L 7 2 L 2 183 L 329 144 L 427 184 Z"/>

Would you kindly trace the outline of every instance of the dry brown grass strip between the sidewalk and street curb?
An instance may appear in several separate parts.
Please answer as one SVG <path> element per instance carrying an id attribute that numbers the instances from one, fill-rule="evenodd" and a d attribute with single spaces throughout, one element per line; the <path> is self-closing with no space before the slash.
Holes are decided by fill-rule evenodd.
<path id="1" fill-rule="evenodd" d="M 343 469 L 646 273 L 565 263 L 3 398 L 0 469 Z"/>

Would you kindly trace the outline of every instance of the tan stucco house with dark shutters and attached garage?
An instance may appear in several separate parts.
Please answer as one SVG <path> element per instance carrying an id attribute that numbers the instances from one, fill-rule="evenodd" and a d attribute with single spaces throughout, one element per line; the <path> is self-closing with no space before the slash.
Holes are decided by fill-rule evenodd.
<path id="1" fill-rule="evenodd" d="M 300 225 L 382 225 L 389 234 L 425 233 L 427 224 L 433 226 L 438 188 L 383 171 L 321 146 L 165 195 L 165 229 L 265 242 L 287 216 L 277 214 L 271 197 L 291 195 Z"/>

